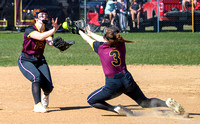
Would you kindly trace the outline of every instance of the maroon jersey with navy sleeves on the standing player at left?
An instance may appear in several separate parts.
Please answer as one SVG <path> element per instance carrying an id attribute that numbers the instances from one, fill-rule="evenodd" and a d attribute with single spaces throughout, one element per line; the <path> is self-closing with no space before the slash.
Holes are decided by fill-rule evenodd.
<path id="1" fill-rule="evenodd" d="M 45 40 L 39 41 L 39 40 L 30 38 L 30 34 L 34 31 L 39 31 L 39 29 L 35 25 L 29 26 L 26 28 L 25 33 L 24 33 L 24 43 L 23 43 L 22 52 L 28 55 L 41 56 L 44 53 L 46 41 Z M 44 31 L 47 31 L 47 30 L 44 29 L 41 32 L 44 32 Z"/>

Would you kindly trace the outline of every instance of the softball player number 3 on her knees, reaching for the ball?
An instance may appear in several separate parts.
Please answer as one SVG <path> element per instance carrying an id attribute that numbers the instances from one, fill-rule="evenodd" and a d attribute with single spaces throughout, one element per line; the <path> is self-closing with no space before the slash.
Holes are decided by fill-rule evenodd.
<path id="1" fill-rule="evenodd" d="M 87 32 L 88 35 L 79 30 L 82 38 L 99 55 L 105 73 L 105 85 L 91 93 L 87 98 L 91 106 L 128 115 L 130 111 L 123 106 L 112 106 L 106 102 L 106 100 L 113 99 L 124 93 L 143 108 L 170 107 L 179 114 L 184 113 L 183 107 L 171 98 L 163 101 L 158 98 L 147 98 L 143 94 L 126 67 L 125 42 L 134 43 L 134 41 L 124 40 L 116 26 L 106 28 L 104 37 L 91 32 L 89 27 L 87 27 Z"/>

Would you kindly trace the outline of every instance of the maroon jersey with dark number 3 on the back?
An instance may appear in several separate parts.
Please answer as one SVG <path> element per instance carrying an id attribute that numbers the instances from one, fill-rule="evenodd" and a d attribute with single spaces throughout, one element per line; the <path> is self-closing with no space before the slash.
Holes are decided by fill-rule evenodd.
<path id="1" fill-rule="evenodd" d="M 126 70 L 126 47 L 121 42 L 118 47 L 110 47 L 107 43 L 95 41 L 93 50 L 98 53 L 105 75 L 113 75 Z"/>

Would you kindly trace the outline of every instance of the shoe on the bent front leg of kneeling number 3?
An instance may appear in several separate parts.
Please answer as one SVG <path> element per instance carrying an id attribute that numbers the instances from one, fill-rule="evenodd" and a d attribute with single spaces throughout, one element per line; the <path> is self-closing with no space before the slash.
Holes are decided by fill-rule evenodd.
<path id="1" fill-rule="evenodd" d="M 119 115 L 125 115 L 125 116 L 133 116 L 133 112 L 122 105 L 117 105 L 114 108 L 114 111 L 117 112 Z"/>

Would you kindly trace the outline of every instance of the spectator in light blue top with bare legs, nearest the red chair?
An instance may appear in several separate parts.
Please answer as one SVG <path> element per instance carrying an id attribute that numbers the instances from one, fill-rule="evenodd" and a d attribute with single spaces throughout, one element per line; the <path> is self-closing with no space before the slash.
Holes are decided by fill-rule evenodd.
<path id="1" fill-rule="evenodd" d="M 107 0 L 106 3 L 105 14 L 109 15 L 111 25 L 114 25 L 113 22 L 116 16 L 116 3 L 117 1 L 115 0 Z"/>

